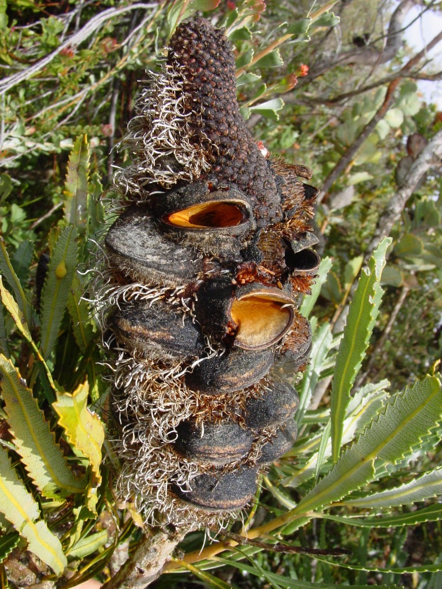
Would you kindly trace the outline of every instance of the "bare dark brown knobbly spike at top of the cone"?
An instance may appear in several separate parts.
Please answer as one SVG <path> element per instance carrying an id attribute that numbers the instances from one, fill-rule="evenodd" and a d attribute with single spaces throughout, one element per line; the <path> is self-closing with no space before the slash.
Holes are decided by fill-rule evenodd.
<path id="1" fill-rule="evenodd" d="M 269 164 L 250 135 L 236 101 L 235 59 L 223 34 L 203 18 L 179 25 L 168 62 L 178 64 L 192 112 L 192 132 L 212 151 L 209 177 L 233 183 L 255 200 L 258 227 L 282 218 Z"/>

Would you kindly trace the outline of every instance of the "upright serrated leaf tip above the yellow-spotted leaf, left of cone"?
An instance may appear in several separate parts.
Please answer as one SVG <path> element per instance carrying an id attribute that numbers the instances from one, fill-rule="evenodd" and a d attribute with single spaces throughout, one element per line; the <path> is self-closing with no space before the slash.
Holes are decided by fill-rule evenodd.
<path id="1" fill-rule="evenodd" d="M 78 135 L 68 161 L 64 185 L 64 216 L 68 224 L 74 225 L 80 231 L 86 229 L 89 158 L 87 135 Z"/>

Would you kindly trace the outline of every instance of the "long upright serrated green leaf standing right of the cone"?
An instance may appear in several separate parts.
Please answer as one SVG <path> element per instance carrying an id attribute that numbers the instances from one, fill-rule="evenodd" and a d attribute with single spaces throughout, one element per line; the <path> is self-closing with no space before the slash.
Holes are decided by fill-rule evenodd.
<path id="1" fill-rule="evenodd" d="M 381 241 L 363 270 L 350 304 L 344 336 L 339 345 L 331 393 L 332 459 L 341 449 L 342 425 L 350 400 L 350 391 L 361 368 L 365 350 L 376 322 L 383 290 L 380 286 L 385 254 L 391 239 Z"/>

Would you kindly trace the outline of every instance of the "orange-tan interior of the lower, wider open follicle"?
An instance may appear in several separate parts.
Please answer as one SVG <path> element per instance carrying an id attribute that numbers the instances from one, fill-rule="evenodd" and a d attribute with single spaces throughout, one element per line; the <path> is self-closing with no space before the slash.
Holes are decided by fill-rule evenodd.
<path id="1" fill-rule="evenodd" d="M 252 294 L 235 300 L 230 311 L 238 325 L 235 343 L 240 348 L 263 349 L 278 341 L 293 323 L 293 309 L 271 294 Z"/>

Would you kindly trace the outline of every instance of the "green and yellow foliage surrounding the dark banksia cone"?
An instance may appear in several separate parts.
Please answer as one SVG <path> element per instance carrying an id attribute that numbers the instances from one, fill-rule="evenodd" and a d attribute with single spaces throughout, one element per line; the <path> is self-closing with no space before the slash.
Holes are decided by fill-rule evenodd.
<path id="1" fill-rule="evenodd" d="M 422 159 L 407 143 L 440 137 L 440 112 L 415 82 L 440 74 L 391 34 L 403 24 L 396 6 L 0 1 L 2 587 L 103 582 L 140 540 L 136 514 L 111 492 L 105 367 L 82 296 L 138 81 L 194 14 L 227 29 L 256 140 L 324 187 L 324 259 L 302 303 L 314 340 L 300 435 L 263 476 L 248 538 L 352 555 L 228 537 L 202 548 L 198 532 L 154 586 L 440 586 L 442 184 L 437 158 L 410 180 Z"/>

